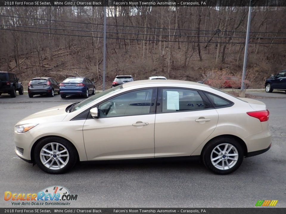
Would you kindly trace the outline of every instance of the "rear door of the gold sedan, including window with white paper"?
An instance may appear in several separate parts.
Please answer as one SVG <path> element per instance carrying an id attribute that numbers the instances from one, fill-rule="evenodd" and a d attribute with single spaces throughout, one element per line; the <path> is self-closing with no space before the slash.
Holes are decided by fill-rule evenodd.
<path id="1" fill-rule="evenodd" d="M 218 114 L 206 96 L 193 89 L 158 89 L 155 158 L 189 156 L 215 130 Z"/>

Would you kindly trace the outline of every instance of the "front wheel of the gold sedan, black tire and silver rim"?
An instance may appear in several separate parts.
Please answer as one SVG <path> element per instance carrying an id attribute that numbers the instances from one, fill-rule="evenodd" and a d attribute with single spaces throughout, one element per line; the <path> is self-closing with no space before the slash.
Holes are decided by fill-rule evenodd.
<path id="1" fill-rule="evenodd" d="M 47 150 L 50 152 L 46 152 Z M 64 150 L 66 151 L 62 152 Z M 69 171 L 77 159 L 74 145 L 59 137 L 49 137 L 39 141 L 34 150 L 35 163 L 41 170 L 50 174 L 62 174 Z"/>

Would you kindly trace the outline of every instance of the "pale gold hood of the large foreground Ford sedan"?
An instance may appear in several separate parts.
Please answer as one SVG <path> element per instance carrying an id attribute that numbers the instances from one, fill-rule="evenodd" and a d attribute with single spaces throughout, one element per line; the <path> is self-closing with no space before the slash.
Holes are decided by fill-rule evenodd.
<path id="1" fill-rule="evenodd" d="M 43 111 L 39 111 L 35 114 L 31 114 L 28 117 L 20 120 L 16 125 L 22 125 L 27 123 L 43 123 L 43 122 L 60 122 L 62 121 L 67 114 L 66 107 L 71 104 L 56 106 L 52 108 L 45 109 Z"/>

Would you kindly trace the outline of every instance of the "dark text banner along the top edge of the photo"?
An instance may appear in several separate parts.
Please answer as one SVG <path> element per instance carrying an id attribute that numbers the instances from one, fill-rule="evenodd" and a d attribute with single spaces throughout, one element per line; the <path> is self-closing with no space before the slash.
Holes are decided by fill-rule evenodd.
<path id="1" fill-rule="evenodd" d="M 0 0 L 0 6 L 31 7 L 281 7 L 286 0 Z"/>

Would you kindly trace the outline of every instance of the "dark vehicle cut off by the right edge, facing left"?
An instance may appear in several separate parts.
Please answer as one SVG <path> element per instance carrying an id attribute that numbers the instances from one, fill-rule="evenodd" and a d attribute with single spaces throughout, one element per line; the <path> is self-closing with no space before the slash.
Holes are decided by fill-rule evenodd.
<path id="1" fill-rule="evenodd" d="M 282 90 L 286 92 L 286 70 L 282 70 L 277 75 L 271 75 L 265 80 L 265 92 L 271 93 L 275 90 Z"/>

